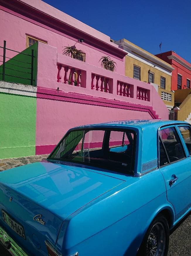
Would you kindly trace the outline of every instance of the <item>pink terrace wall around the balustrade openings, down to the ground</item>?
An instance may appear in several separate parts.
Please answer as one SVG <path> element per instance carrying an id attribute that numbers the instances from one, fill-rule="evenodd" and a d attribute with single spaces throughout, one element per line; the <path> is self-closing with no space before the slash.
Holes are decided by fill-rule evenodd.
<path id="1" fill-rule="evenodd" d="M 62 65 L 60 82 L 57 64 Z M 83 70 L 83 87 L 63 83 L 65 66 Z M 92 90 L 92 73 L 111 79 L 112 93 Z M 133 97 L 117 94 L 117 81 L 131 84 Z M 149 90 L 149 101 L 137 99 L 137 87 Z M 74 126 L 154 118 L 168 119 L 168 109 L 151 84 L 62 56 L 57 48 L 38 43 L 36 154 L 49 153 Z"/>

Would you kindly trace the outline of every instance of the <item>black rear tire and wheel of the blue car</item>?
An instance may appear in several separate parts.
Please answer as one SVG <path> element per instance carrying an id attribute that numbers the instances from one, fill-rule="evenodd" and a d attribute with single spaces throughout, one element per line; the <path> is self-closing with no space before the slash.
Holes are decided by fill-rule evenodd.
<path id="1" fill-rule="evenodd" d="M 158 215 L 149 226 L 137 256 L 167 256 L 168 245 L 168 222 L 163 215 Z"/>

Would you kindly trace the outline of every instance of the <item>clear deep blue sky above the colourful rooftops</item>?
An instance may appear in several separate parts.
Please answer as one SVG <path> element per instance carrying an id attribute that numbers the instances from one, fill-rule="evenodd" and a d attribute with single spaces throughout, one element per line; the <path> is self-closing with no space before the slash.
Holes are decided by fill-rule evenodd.
<path id="1" fill-rule="evenodd" d="M 191 63 L 190 0 L 44 0 L 107 34 L 126 38 L 152 54 L 173 50 Z"/>

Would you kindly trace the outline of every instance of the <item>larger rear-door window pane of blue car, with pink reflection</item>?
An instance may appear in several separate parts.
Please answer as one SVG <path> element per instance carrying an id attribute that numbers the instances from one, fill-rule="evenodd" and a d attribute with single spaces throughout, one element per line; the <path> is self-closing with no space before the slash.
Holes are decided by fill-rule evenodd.
<path id="1" fill-rule="evenodd" d="M 174 127 L 161 129 L 159 134 L 168 154 L 170 163 L 185 157 L 183 146 Z"/>

